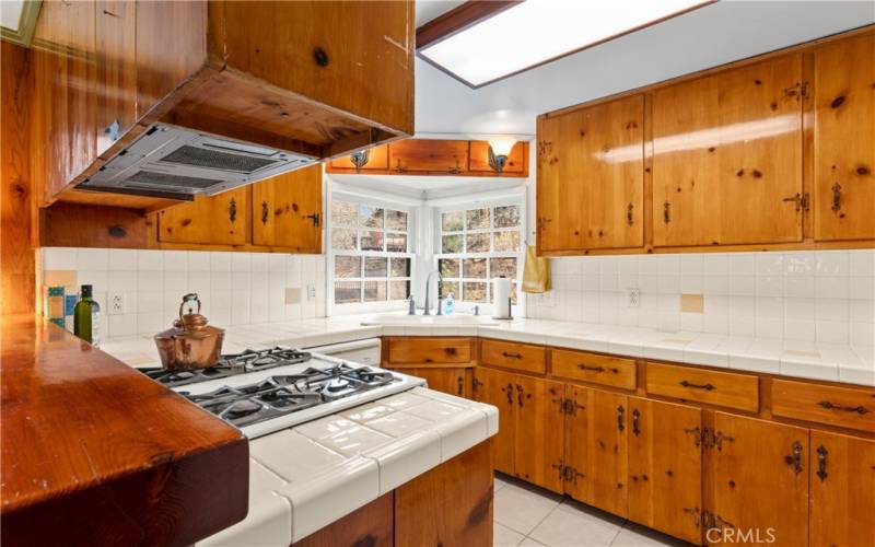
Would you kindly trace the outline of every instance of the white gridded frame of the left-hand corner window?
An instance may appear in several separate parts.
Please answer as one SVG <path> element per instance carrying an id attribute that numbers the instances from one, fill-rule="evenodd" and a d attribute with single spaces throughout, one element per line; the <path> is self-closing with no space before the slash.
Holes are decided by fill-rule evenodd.
<path id="1" fill-rule="evenodd" d="M 337 190 L 329 193 L 328 199 L 328 209 L 326 214 L 326 247 L 328 249 L 328 264 L 327 264 L 327 291 L 326 294 L 328 296 L 328 309 L 330 310 L 332 315 L 342 315 L 342 314 L 355 314 L 355 313 L 374 313 L 374 312 L 383 312 L 383 311 L 395 311 L 405 309 L 407 305 L 405 300 L 389 300 L 389 281 L 408 281 L 410 286 L 410 291 L 413 290 L 413 283 L 416 281 L 416 268 L 417 268 L 417 210 L 419 208 L 418 202 L 405 202 L 405 201 L 396 201 L 393 199 L 387 199 L 376 195 L 368 195 L 368 194 L 359 194 L 359 193 L 351 193 L 347 190 Z M 357 246 L 361 246 L 361 232 L 383 232 L 393 233 L 397 232 L 395 230 L 387 230 L 385 228 L 380 229 L 368 229 L 364 226 L 359 226 L 358 222 L 358 214 L 361 206 L 374 207 L 380 209 L 390 209 L 395 211 L 404 211 L 407 213 L 407 252 L 406 253 L 395 253 L 395 252 L 387 252 L 387 251 L 361 251 L 360 248 L 357 249 L 336 249 L 332 246 L 332 238 L 331 233 L 335 228 L 347 228 L 347 226 L 335 226 L 332 219 L 331 219 L 331 210 L 334 209 L 335 201 L 347 201 L 355 203 L 357 206 Z M 385 246 L 385 235 L 384 235 L 384 246 Z M 358 278 L 335 278 L 335 260 L 337 256 L 357 256 L 361 257 L 362 260 L 362 277 Z M 392 261 L 387 263 L 387 271 L 386 278 L 368 278 L 364 277 L 364 261 L 368 257 L 378 257 L 378 258 L 408 258 L 410 260 L 410 272 L 408 277 L 401 278 L 393 278 L 392 277 Z M 380 302 L 364 302 L 364 283 L 366 281 L 374 281 L 374 280 L 385 280 L 386 286 L 386 299 L 385 301 Z M 359 302 L 349 302 L 349 303 L 337 303 L 335 302 L 335 281 L 361 281 L 362 282 L 362 300 Z"/>

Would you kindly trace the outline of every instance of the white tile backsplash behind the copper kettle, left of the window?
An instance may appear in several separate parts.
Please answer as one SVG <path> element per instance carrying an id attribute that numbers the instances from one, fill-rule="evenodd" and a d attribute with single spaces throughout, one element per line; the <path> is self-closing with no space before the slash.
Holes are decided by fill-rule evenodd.
<path id="1" fill-rule="evenodd" d="M 198 293 L 218 326 L 326 313 L 323 255 L 46 247 L 43 269 L 75 271 L 77 284 L 93 284 L 100 302 L 107 292 L 124 295 L 124 314 L 103 307 L 104 339 L 168 328 L 187 292 Z M 306 286 L 315 288 L 314 299 Z M 300 304 L 285 304 L 287 288 L 301 289 Z"/>

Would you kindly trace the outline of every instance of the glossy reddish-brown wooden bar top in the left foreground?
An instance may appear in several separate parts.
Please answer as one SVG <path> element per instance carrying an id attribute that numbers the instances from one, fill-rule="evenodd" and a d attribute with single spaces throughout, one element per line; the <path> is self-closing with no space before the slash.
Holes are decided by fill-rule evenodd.
<path id="1" fill-rule="evenodd" d="M 190 545 L 247 512 L 243 434 L 66 330 L 0 319 L 7 545 Z"/>

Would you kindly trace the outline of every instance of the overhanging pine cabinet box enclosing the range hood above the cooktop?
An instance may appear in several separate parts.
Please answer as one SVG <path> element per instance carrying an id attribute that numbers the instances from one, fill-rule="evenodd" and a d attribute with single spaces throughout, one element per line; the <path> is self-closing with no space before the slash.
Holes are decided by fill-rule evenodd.
<path id="1" fill-rule="evenodd" d="M 314 162 L 407 137 L 413 40 L 412 1 L 45 2 L 40 203 L 164 205 L 154 188 L 77 188 L 156 124 Z"/>

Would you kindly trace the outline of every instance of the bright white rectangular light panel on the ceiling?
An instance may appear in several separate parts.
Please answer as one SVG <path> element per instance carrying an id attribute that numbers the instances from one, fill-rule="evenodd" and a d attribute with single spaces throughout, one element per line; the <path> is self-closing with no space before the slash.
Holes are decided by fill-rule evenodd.
<path id="1" fill-rule="evenodd" d="M 419 55 L 479 88 L 664 19 L 711 3 L 702 0 L 526 0 Z"/>

